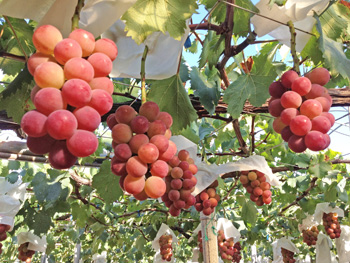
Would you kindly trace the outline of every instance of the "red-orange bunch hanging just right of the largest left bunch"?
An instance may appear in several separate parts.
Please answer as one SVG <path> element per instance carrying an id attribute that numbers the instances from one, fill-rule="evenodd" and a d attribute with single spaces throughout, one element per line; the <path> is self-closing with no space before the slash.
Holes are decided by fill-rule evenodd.
<path id="1" fill-rule="evenodd" d="M 107 118 L 114 148 L 111 171 L 121 177 L 121 188 L 138 200 L 165 193 L 167 162 L 177 151 L 175 143 L 169 141 L 172 123 L 171 115 L 160 112 L 152 101 L 142 104 L 139 113 L 123 105 Z"/>

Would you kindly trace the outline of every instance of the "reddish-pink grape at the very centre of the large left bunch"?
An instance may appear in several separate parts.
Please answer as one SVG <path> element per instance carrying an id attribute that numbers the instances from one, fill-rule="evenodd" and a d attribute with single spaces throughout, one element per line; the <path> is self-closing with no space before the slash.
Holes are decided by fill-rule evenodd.
<path id="1" fill-rule="evenodd" d="M 62 87 L 63 99 L 73 107 L 86 106 L 92 97 L 90 85 L 82 79 L 69 79 Z"/>

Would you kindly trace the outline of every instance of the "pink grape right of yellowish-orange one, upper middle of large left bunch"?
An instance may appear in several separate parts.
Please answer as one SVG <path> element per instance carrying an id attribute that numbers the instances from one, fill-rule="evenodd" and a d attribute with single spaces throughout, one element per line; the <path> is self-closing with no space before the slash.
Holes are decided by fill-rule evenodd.
<path id="1" fill-rule="evenodd" d="M 64 65 L 64 75 L 66 79 L 82 79 L 87 83 L 94 78 L 94 68 L 84 58 L 71 58 Z"/>

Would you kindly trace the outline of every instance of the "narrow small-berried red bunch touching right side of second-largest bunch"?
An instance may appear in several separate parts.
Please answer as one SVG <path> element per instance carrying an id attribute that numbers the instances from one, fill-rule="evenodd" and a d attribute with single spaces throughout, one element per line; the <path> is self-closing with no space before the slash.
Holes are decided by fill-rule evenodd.
<path id="1" fill-rule="evenodd" d="M 169 173 L 165 177 L 166 191 L 162 201 L 172 216 L 178 216 L 181 209 L 188 209 L 196 202 L 192 195 L 197 184 L 194 176 L 198 168 L 187 150 L 180 150 L 168 161 Z"/>

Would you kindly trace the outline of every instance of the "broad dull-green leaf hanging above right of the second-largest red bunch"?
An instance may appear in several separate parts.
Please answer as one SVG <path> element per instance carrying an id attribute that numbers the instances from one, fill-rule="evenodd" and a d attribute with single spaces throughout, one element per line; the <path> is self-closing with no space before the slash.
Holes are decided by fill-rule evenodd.
<path id="1" fill-rule="evenodd" d="M 197 119 L 179 75 L 168 79 L 151 81 L 151 89 L 147 99 L 158 103 L 161 111 L 168 112 L 173 117 L 171 130 L 181 131 Z"/>

